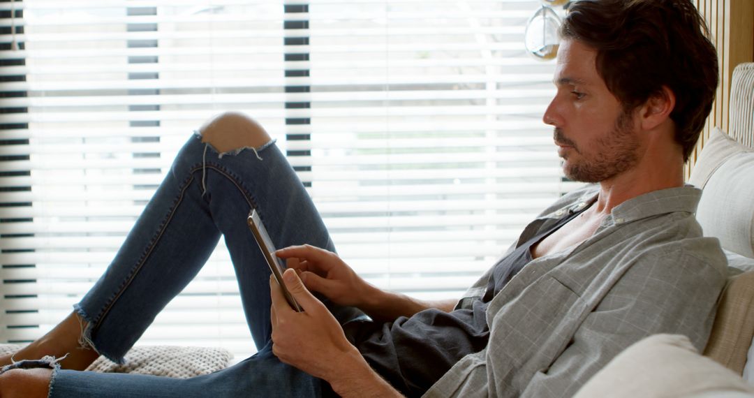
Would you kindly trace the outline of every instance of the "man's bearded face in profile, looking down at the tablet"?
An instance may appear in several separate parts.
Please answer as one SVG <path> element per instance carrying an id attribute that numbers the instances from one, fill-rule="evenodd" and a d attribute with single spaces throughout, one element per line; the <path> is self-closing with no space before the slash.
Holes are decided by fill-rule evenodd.
<path id="1" fill-rule="evenodd" d="M 544 112 L 544 123 L 555 127 L 563 171 L 574 181 L 605 181 L 639 161 L 633 114 L 624 112 L 610 93 L 595 60 L 590 47 L 562 41 L 554 77 L 557 93 Z"/>

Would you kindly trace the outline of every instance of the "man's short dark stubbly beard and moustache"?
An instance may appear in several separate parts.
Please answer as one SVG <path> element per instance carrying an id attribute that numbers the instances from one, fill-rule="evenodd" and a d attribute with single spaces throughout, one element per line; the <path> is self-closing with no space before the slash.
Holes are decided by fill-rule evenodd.
<path id="1" fill-rule="evenodd" d="M 613 130 L 594 142 L 578 146 L 557 127 L 553 138 L 555 142 L 571 146 L 578 154 L 572 157 L 566 152 L 562 156 L 563 172 L 572 181 L 601 182 L 624 173 L 639 163 L 636 155 L 639 142 L 634 136 L 631 115 L 625 111 L 621 111 L 615 119 Z M 572 159 L 569 161 L 569 158 Z"/>

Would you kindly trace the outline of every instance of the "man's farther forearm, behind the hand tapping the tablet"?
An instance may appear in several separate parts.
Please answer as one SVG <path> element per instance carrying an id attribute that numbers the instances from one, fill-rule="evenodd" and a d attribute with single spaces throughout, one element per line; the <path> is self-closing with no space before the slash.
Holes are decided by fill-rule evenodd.
<path id="1" fill-rule="evenodd" d="M 455 298 L 420 300 L 397 292 L 386 292 L 370 285 L 359 308 L 374 320 L 394 320 L 397 317 L 410 317 L 428 308 L 450 312 L 457 302 Z"/>

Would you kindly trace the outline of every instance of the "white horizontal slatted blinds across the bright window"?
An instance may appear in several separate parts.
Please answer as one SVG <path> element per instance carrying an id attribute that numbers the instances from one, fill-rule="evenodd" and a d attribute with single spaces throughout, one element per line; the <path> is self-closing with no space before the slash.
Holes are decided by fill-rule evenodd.
<path id="1" fill-rule="evenodd" d="M 457 297 L 572 188 L 541 123 L 553 65 L 523 47 L 539 6 L 0 3 L 0 338 L 71 311 L 180 145 L 225 110 L 277 139 L 360 274 Z M 138 344 L 253 352 L 222 243 Z"/>

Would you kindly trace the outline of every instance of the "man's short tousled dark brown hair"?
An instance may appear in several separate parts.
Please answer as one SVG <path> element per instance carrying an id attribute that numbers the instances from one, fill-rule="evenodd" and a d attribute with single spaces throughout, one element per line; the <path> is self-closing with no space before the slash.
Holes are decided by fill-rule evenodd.
<path id="1" fill-rule="evenodd" d="M 690 0 L 577 0 L 560 35 L 597 51 L 597 72 L 627 112 L 670 88 L 675 139 L 688 161 L 718 84 L 717 52 Z"/>

